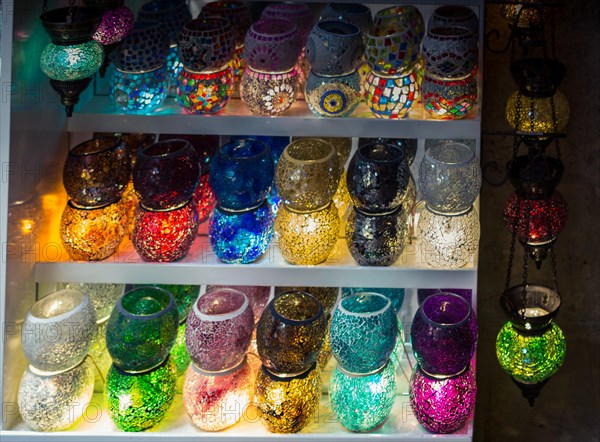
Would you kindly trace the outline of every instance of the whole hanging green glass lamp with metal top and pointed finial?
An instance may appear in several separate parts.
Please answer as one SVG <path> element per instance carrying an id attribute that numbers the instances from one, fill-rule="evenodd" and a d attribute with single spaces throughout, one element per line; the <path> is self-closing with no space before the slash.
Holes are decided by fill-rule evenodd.
<path id="1" fill-rule="evenodd" d="M 518 285 L 505 291 L 500 304 L 510 319 L 496 338 L 496 356 L 533 406 L 565 360 L 566 340 L 553 322 L 560 294 L 543 285 Z"/>

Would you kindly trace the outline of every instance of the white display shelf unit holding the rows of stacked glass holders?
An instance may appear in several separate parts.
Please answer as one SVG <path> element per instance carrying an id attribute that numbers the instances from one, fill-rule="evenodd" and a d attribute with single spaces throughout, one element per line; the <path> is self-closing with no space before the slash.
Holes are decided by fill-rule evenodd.
<path id="1" fill-rule="evenodd" d="M 347 1 L 347 0 L 346 0 Z M 298 101 L 289 113 L 281 117 L 250 115 L 243 103 L 233 100 L 225 112 L 217 116 L 184 115 L 172 100 L 153 115 L 126 115 L 116 113 L 105 96 L 86 96 L 76 106 L 72 118 L 66 119 L 63 109 L 47 79 L 32 68 L 28 57 L 41 52 L 47 37 L 38 22 L 39 5 L 35 0 L 11 2 L 4 0 L 4 14 L 9 25 L 3 27 L 2 63 L 12 67 L 10 100 L 3 100 L 0 135 L 2 162 L 10 164 L 2 176 L 0 204 L 2 249 L 2 287 L 0 316 L 5 323 L 4 339 L 0 341 L 0 389 L 3 400 L 3 419 L 0 421 L 0 439 L 23 440 L 243 440 L 265 441 L 285 439 L 292 441 L 471 441 L 473 418 L 454 434 L 434 435 L 420 427 L 412 415 L 408 401 L 408 377 L 411 366 L 406 356 L 398 372 L 398 396 L 394 410 L 386 423 L 373 433 L 356 434 L 343 429 L 332 419 L 327 398 L 323 397 L 318 419 L 298 434 L 273 435 L 249 418 L 231 429 L 206 433 L 196 429 L 183 411 L 181 397 L 177 396 L 167 419 L 153 430 L 143 433 L 118 431 L 103 408 L 102 395 L 94 396 L 99 416 L 88 416 L 73 428 L 59 433 L 30 431 L 16 412 L 16 392 L 26 365 L 20 348 L 18 326 L 26 311 L 36 301 L 41 283 L 55 282 L 121 282 L 166 284 L 231 284 L 231 285 L 308 285 L 335 287 L 403 287 L 407 290 L 404 318 L 410 318 L 417 304 L 419 288 L 454 287 L 472 290 L 476 306 L 477 258 L 460 269 L 434 269 L 424 262 L 417 243 L 407 245 L 396 264 L 390 267 L 360 267 L 350 256 L 345 240 L 340 238 L 335 252 L 323 264 L 293 266 L 283 261 L 274 244 L 258 262 L 249 265 L 226 265 L 218 261 L 210 250 L 206 235 L 200 235 L 189 255 L 175 263 L 143 262 L 129 240 L 119 251 L 102 262 L 82 263 L 69 260 L 58 237 L 60 212 L 66 201 L 62 188 L 61 169 L 69 144 L 93 132 L 146 132 L 189 133 L 219 135 L 303 135 L 345 137 L 390 137 L 419 139 L 419 153 L 423 154 L 426 139 L 472 140 L 477 153 L 480 150 L 481 131 L 481 69 L 479 105 L 460 121 L 438 121 L 428 118 L 422 105 L 417 104 L 409 119 L 379 120 L 366 105 L 361 104 L 351 117 L 326 119 L 313 116 L 306 104 Z M 141 0 L 131 0 L 128 5 Z M 191 2 L 196 8 L 200 0 Z M 309 0 L 308 3 L 316 3 Z M 385 1 L 366 0 L 373 10 L 386 6 Z M 399 2 L 387 1 L 388 4 Z M 427 19 L 436 6 L 463 4 L 476 10 L 480 17 L 480 42 L 483 42 L 484 0 L 418 0 L 401 2 L 418 4 Z M 13 32 L 14 24 L 14 32 Z M 9 35 L 6 35 L 8 31 Z M 7 42 L 7 39 L 9 40 Z M 12 42 L 10 41 L 12 39 Z M 12 43 L 12 46 L 11 46 Z M 482 66 L 480 50 L 480 67 Z M 37 63 L 37 62 L 35 62 Z M 2 71 L 2 80 L 11 72 Z M 88 94 L 89 95 L 89 94 Z M 10 127 L 10 135 L 4 129 Z M 420 156 L 419 156 L 420 155 Z M 415 167 L 413 166 L 413 170 Z M 6 185 L 8 183 L 8 186 Z M 6 227 L 5 227 L 6 226 Z M 4 230 L 3 230 L 4 229 Z M 92 410 L 94 411 L 94 410 Z"/>

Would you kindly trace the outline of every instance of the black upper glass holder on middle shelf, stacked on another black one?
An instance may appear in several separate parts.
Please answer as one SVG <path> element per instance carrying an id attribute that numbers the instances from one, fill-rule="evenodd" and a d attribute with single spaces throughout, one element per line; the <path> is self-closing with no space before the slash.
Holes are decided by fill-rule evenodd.
<path id="1" fill-rule="evenodd" d="M 410 169 L 401 148 L 376 141 L 358 148 L 346 179 L 357 209 L 367 214 L 386 214 L 402 205 Z"/>

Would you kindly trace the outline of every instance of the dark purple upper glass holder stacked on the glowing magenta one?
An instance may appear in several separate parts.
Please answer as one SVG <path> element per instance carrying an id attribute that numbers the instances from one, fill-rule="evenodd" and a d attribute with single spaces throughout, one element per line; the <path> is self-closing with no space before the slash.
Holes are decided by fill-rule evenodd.
<path id="1" fill-rule="evenodd" d="M 415 359 L 432 376 L 454 376 L 475 354 L 477 318 L 471 305 L 454 293 L 429 296 L 415 313 L 410 332 Z"/>

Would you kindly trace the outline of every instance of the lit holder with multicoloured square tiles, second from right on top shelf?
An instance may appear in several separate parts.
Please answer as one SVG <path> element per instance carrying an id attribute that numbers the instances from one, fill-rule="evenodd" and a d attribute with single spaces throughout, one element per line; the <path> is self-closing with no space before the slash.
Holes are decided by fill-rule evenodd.
<path id="1" fill-rule="evenodd" d="M 370 71 L 363 87 L 365 102 L 377 118 L 404 118 L 419 98 L 419 85 L 414 71 L 393 76 Z"/>

